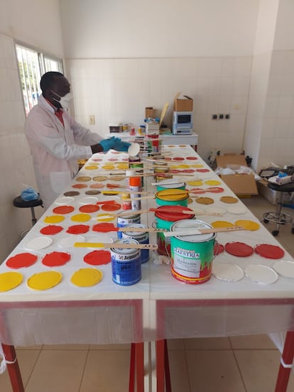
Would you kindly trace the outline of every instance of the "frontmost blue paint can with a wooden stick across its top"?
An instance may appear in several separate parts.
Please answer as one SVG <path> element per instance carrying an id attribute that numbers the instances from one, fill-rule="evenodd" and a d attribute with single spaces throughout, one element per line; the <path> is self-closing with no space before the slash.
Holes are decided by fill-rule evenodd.
<path id="1" fill-rule="evenodd" d="M 117 285 L 134 285 L 141 279 L 141 250 L 119 248 L 119 244 L 138 244 L 136 239 L 118 239 L 110 249 L 112 281 Z"/>

